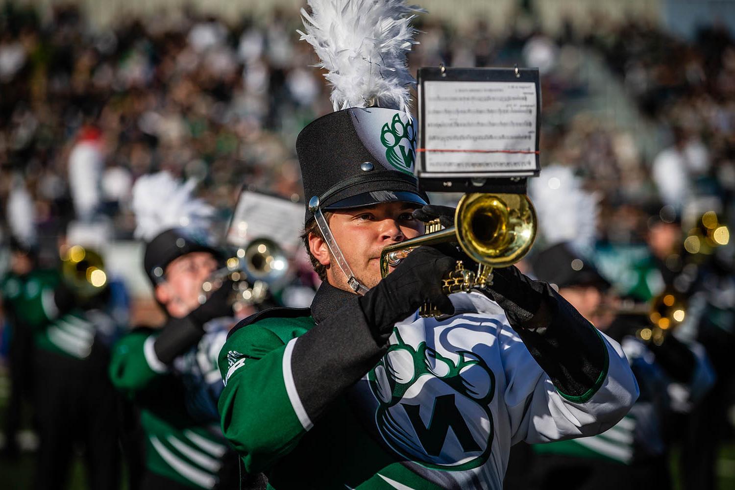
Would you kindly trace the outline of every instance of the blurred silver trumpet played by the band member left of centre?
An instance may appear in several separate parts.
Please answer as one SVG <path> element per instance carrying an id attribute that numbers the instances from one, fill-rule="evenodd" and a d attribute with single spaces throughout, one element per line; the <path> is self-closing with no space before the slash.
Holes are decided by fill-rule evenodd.
<path id="1" fill-rule="evenodd" d="M 230 302 L 237 313 L 246 306 L 262 303 L 268 289 L 288 273 L 288 257 L 273 240 L 257 238 L 237 254 L 226 260 L 225 267 L 215 270 L 201 285 L 199 303 L 204 303 L 212 292 L 232 281 Z"/>

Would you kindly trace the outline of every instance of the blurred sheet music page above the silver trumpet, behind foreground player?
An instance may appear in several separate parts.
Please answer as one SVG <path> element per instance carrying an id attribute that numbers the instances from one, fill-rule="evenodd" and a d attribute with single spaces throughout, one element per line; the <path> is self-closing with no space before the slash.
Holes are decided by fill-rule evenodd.
<path id="1" fill-rule="evenodd" d="M 295 251 L 301 245 L 304 205 L 282 198 L 245 191 L 237 201 L 227 242 L 243 247 L 259 237 L 273 239 L 284 250 Z"/>

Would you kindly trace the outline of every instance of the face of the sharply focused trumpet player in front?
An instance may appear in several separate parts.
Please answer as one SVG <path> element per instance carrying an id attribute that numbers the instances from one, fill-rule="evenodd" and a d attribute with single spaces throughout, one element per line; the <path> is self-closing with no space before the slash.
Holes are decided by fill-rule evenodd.
<path id="1" fill-rule="evenodd" d="M 423 223 L 412 217 L 416 207 L 412 203 L 380 203 L 340 210 L 331 216 L 329 228 L 334 239 L 352 273 L 366 287 L 375 287 L 381 280 L 380 252 L 383 248 L 423 233 Z M 329 284 L 350 290 L 347 278 L 331 256 L 326 257 L 325 265 Z"/>

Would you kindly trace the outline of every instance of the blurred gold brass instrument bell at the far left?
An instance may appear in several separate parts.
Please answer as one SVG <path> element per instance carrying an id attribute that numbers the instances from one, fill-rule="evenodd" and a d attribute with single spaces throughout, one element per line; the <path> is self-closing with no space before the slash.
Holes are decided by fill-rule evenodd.
<path id="1" fill-rule="evenodd" d="M 99 253 L 82 245 L 62 247 L 61 273 L 80 298 L 93 298 L 107 284 L 104 261 Z"/>

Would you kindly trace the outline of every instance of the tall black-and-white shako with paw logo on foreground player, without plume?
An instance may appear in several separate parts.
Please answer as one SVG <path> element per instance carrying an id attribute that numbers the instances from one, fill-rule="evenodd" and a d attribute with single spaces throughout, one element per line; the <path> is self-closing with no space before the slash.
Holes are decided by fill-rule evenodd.
<path id="1" fill-rule="evenodd" d="M 331 112 L 296 140 L 306 217 L 316 197 L 322 210 L 397 201 L 429 202 L 414 176 L 416 126 L 406 112 L 364 107 Z"/>

